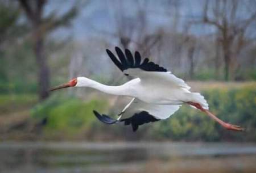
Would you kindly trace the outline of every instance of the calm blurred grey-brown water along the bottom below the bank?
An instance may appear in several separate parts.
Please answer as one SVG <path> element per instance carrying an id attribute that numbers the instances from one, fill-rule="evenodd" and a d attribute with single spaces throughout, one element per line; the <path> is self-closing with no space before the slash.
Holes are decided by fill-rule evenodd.
<path id="1" fill-rule="evenodd" d="M 256 144 L 8 142 L 0 172 L 256 172 Z"/>

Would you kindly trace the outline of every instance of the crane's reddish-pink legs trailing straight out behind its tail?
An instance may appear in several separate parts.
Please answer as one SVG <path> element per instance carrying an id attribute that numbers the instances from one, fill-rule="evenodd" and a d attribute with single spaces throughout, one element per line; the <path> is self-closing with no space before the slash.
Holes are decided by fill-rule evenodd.
<path id="1" fill-rule="evenodd" d="M 211 117 L 213 120 L 217 121 L 217 123 L 219 123 L 220 125 L 222 125 L 224 128 L 226 128 L 228 130 L 234 130 L 234 131 L 243 131 L 244 130 L 243 128 L 241 128 L 238 125 L 225 123 L 221 119 L 218 119 L 217 116 L 215 116 L 213 113 L 211 113 L 207 109 L 204 109 L 199 103 L 195 103 L 195 102 L 187 102 L 187 103 L 190 104 L 191 106 L 194 106 L 197 109 L 200 109 L 201 111 L 205 112 L 209 117 Z"/>

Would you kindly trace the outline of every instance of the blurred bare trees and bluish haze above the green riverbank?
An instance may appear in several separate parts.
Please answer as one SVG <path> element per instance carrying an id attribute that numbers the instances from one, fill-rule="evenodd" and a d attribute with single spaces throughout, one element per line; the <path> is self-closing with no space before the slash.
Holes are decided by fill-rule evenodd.
<path id="1" fill-rule="evenodd" d="M 255 79 L 253 1 L 203 1 L 204 6 L 190 7 L 198 11 L 193 16 L 189 16 L 192 12 L 181 15 L 182 8 L 189 11 L 192 6 L 183 1 L 118 1 L 114 8 L 114 1 L 89 1 L 86 8 L 91 14 L 81 2 L 0 1 L 0 76 L 6 81 L 1 82 L 0 92 L 38 90 L 43 99 L 49 94 L 49 71 L 56 75 L 53 83 L 93 75 L 116 85 L 125 79 L 104 52 L 114 45 L 139 50 L 184 79 Z M 60 5 L 65 10 L 58 9 Z M 104 12 L 97 11 L 97 6 Z M 152 6 L 158 8 L 152 10 Z M 158 20 L 162 24 L 155 24 Z M 110 24 L 96 28 L 106 22 Z M 54 31 L 63 27 L 72 32 L 74 27 L 81 28 L 81 38 L 61 41 Z M 201 27 L 209 31 L 203 34 Z M 72 32 L 75 37 L 77 33 Z M 100 68 L 99 58 L 104 61 Z"/>

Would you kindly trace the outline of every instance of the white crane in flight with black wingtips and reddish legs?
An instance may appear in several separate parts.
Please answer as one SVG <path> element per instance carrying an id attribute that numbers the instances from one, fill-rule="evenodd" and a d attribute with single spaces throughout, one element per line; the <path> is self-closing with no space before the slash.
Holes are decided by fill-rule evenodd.
<path id="1" fill-rule="evenodd" d="M 141 61 L 141 54 L 125 49 L 123 53 L 115 47 L 118 58 L 108 49 L 110 59 L 125 74 L 134 77 L 121 86 L 106 86 L 86 77 L 77 77 L 63 85 L 52 88 L 58 90 L 66 87 L 90 87 L 113 95 L 130 96 L 131 101 L 119 113 L 118 119 L 112 119 L 108 115 L 101 115 L 93 111 L 98 120 L 106 124 L 124 122 L 131 125 L 136 131 L 139 125 L 154 121 L 164 120 L 176 112 L 182 104 L 188 104 L 193 108 L 203 111 L 213 120 L 228 130 L 242 131 L 238 125 L 225 123 L 209 112 L 209 107 L 204 96 L 198 92 L 189 91 L 190 87 L 171 71 L 167 71 L 148 58 Z"/>

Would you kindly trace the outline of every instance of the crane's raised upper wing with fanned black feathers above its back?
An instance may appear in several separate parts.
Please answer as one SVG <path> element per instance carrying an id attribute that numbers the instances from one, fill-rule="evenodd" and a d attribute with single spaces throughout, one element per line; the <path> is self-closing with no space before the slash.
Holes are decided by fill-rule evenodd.
<path id="1" fill-rule="evenodd" d="M 135 51 L 133 56 L 129 49 L 125 49 L 125 53 L 123 53 L 120 48 L 115 47 L 115 51 L 117 52 L 118 58 L 109 49 L 106 49 L 110 59 L 125 75 L 140 78 L 142 83 L 161 82 L 172 87 L 190 89 L 182 79 L 177 78 L 171 71 L 149 61 L 148 58 L 144 58 L 142 61 L 139 52 Z"/>

